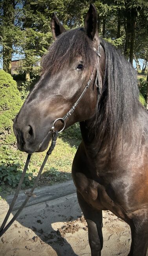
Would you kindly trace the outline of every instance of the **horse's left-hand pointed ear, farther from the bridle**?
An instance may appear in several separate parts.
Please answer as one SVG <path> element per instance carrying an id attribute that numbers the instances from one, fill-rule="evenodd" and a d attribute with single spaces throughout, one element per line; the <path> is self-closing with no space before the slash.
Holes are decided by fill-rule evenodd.
<path id="1" fill-rule="evenodd" d="M 50 27 L 54 40 L 57 39 L 57 37 L 65 31 L 64 26 L 62 26 L 55 13 L 52 15 Z"/>

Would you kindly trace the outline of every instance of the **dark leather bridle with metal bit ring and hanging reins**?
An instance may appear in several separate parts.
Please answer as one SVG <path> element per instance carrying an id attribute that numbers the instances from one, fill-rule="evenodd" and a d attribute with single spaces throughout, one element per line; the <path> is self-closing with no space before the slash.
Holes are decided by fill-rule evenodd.
<path id="1" fill-rule="evenodd" d="M 90 84 L 91 84 L 91 81 L 94 77 L 94 72 L 95 70 L 97 71 L 97 75 L 96 75 L 96 78 L 95 78 L 95 84 L 97 86 L 97 106 L 98 106 L 98 103 L 99 103 L 99 96 L 102 92 L 102 86 L 101 86 L 101 82 L 100 82 L 100 78 L 99 78 L 99 61 L 100 61 L 100 43 L 99 43 L 99 47 L 98 47 L 98 50 L 95 49 L 95 47 L 93 47 L 93 50 L 96 52 L 98 58 L 97 58 L 97 62 L 95 64 L 95 67 L 91 73 L 91 76 L 83 90 L 83 92 L 81 93 L 80 97 L 77 99 L 77 101 L 73 104 L 73 106 L 69 109 L 69 111 L 62 117 L 62 118 L 57 118 L 54 122 L 53 122 L 53 126 L 50 130 L 50 132 L 53 133 L 53 136 L 52 136 L 52 141 L 51 141 L 51 146 L 49 147 L 47 153 L 46 153 L 46 156 L 44 158 L 44 161 L 42 163 L 42 166 L 40 167 L 40 170 L 38 172 L 38 175 L 37 175 L 37 178 L 35 180 L 35 183 L 31 189 L 31 191 L 26 191 L 25 194 L 26 194 L 26 199 L 25 201 L 23 202 L 23 204 L 20 206 L 20 208 L 18 209 L 18 211 L 15 213 L 15 215 L 13 216 L 13 218 L 9 221 L 9 223 L 6 225 L 6 222 L 7 220 L 9 219 L 9 216 L 13 210 L 13 206 L 15 205 L 15 202 L 16 202 L 16 199 L 17 199 L 17 196 L 18 196 L 18 193 L 20 191 L 20 188 L 21 188 L 21 185 L 24 181 L 24 177 L 25 177 L 25 174 L 26 174 L 26 171 L 27 171 L 27 167 L 28 167 L 28 164 L 29 164 L 29 161 L 30 161 L 30 158 L 31 158 L 31 155 L 28 154 L 27 156 L 27 160 L 26 160 L 26 164 L 24 166 L 24 170 L 22 172 L 22 176 L 20 178 L 20 182 L 18 184 L 18 187 L 16 189 L 16 192 L 15 192 L 15 195 L 14 195 L 14 198 L 10 204 L 10 207 L 9 207 L 9 210 L 5 216 L 5 219 L 2 223 L 2 226 L 0 227 L 0 237 L 5 233 L 5 231 L 11 226 L 11 224 L 13 224 L 13 222 L 16 220 L 16 218 L 18 217 L 18 215 L 20 214 L 20 212 L 22 211 L 22 209 L 25 207 L 25 205 L 27 204 L 29 198 L 31 196 L 33 197 L 36 197 L 35 194 L 33 194 L 33 191 L 35 189 L 35 187 L 37 186 L 37 183 L 38 183 L 38 180 L 40 179 L 40 176 L 41 176 L 41 173 L 42 173 L 42 170 L 46 164 L 46 161 L 48 160 L 48 157 L 49 155 L 51 155 L 53 149 L 55 148 L 55 144 L 56 144 L 56 141 L 57 141 L 57 137 L 58 137 L 58 133 L 61 133 L 64 129 L 65 129 L 65 126 L 66 126 L 66 120 L 68 120 L 68 118 L 71 116 L 71 114 L 75 111 L 75 108 L 77 107 L 77 105 L 79 104 L 80 100 L 82 99 L 82 97 L 84 96 L 84 94 L 86 93 L 86 90 L 90 87 Z M 57 121 L 61 121 L 64 125 L 63 125 L 63 128 L 60 130 L 60 131 L 55 131 L 55 123 Z M 5 226 L 6 225 L 6 226 Z"/>

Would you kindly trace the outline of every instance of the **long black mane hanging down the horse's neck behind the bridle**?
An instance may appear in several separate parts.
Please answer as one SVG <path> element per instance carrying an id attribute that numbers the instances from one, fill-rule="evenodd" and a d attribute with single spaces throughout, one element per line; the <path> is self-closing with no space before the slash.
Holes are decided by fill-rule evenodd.
<path id="1" fill-rule="evenodd" d="M 128 131 L 136 123 L 139 89 L 137 73 L 130 62 L 110 43 L 103 39 L 100 43 L 106 55 L 106 68 L 95 124 L 100 132 L 105 132 L 104 136 L 112 148 L 119 133 L 122 133 L 124 141 L 131 139 Z"/>

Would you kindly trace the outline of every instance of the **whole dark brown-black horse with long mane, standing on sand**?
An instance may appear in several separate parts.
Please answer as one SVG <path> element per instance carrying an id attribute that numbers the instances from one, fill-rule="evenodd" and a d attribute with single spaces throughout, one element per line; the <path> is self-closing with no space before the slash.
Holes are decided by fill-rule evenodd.
<path id="1" fill-rule="evenodd" d="M 109 209 L 130 225 L 128 255 L 145 256 L 148 113 L 139 103 L 136 73 L 117 49 L 100 39 L 93 4 L 84 28 L 65 31 L 53 14 L 51 30 L 55 42 L 43 57 L 43 73 L 14 120 L 18 149 L 44 151 L 53 122 L 68 112 L 93 77 L 66 120 L 66 127 L 80 122 L 82 142 L 72 175 L 88 223 L 91 255 L 101 255 L 102 210 Z M 55 128 L 62 125 L 58 121 Z"/>

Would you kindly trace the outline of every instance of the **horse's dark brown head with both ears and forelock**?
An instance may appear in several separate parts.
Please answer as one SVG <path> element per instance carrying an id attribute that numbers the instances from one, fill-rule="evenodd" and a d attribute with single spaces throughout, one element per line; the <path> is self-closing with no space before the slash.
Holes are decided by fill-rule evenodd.
<path id="1" fill-rule="evenodd" d="M 66 128 L 77 121 L 89 120 L 95 114 L 97 87 L 94 86 L 99 47 L 97 10 L 90 5 L 84 28 L 66 31 L 55 13 L 51 19 L 54 43 L 42 59 L 42 75 L 27 96 L 16 116 L 13 130 L 21 151 L 44 151 L 49 144 L 51 127 L 62 118 L 82 94 L 90 76 L 89 90 L 75 112 L 66 120 Z M 104 50 L 100 47 L 100 70 L 104 65 Z M 100 79 L 102 75 L 100 76 Z M 57 121 L 55 129 L 62 129 Z"/>

